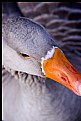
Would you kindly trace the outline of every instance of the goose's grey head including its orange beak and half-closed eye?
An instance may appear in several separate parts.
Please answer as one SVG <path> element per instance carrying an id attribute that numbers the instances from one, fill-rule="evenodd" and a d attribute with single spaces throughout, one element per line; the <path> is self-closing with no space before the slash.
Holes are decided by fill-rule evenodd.
<path id="1" fill-rule="evenodd" d="M 3 65 L 57 81 L 81 96 L 81 74 L 47 30 L 25 17 L 3 19 Z"/>

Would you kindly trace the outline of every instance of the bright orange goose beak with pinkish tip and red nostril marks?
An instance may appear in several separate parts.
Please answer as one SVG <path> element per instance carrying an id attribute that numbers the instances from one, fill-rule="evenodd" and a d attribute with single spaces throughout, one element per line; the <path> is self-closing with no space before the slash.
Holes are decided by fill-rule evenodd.
<path id="1" fill-rule="evenodd" d="M 81 96 L 81 74 L 67 60 L 59 48 L 55 48 L 51 58 L 43 60 L 45 77 L 55 80 Z"/>

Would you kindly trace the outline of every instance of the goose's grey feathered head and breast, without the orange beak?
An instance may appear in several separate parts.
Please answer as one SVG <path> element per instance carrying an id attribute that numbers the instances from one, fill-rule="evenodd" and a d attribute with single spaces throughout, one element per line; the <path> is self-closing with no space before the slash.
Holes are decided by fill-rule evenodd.
<path id="1" fill-rule="evenodd" d="M 26 36 L 27 32 L 31 34 Z M 81 120 L 81 97 L 44 78 L 41 72 L 41 58 L 52 46 L 57 46 L 56 41 L 35 21 L 24 17 L 3 18 L 4 121 Z M 24 59 L 20 52 L 27 52 L 30 58 Z"/>

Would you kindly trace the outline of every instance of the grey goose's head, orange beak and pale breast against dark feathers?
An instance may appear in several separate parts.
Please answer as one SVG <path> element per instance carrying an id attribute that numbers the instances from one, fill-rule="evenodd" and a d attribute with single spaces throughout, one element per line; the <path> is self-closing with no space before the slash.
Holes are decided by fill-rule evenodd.
<path id="1" fill-rule="evenodd" d="M 7 4 L 13 11 L 2 20 L 3 120 L 80 121 L 81 74 L 42 25 Z"/>

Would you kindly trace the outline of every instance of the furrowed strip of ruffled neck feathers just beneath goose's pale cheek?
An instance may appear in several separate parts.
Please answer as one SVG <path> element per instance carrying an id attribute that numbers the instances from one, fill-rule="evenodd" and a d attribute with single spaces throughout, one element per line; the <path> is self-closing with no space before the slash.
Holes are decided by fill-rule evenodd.
<path id="1" fill-rule="evenodd" d="M 16 70 L 13 70 L 5 65 L 3 65 L 2 67 L 3 71 L 5 72 L 9 72 L 10 75 L 12 75 L 16 80 L 19 80 L 21 82 L 28 82 L 29 81 L 32 83 L 35 82 L 35 83 L 40 83 L 40 84 L 45 84 L 45 78 L 41 78 L 39 76 L 35 76 L 35 75 L 30 75 L 30 74 L 27 74 L 25 72 L 21 72 L 21 71 L 16 71 Z M 31 79 L 29 79 L 31 77 Z"/>

